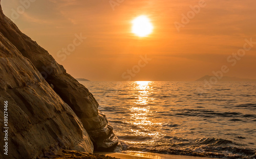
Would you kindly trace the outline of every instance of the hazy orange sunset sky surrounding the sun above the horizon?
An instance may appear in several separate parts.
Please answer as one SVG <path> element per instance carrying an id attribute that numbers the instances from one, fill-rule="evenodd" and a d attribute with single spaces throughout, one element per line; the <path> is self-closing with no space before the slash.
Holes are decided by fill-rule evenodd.
<path id="1" fill-rule="evenodd" d="M 256 1 L 33 0 L 19 14 L 23 1 L 2 0 L 6 16 L 76 78 L 194 81 L 226 65 L 225 76 L 256 79 Z M 200 2 L 203 7 L 195 13 L 192 8 Z M 178 31 L 175 23 L 182 24 L 187 13 L 189 22 Z M 132 33 L 132 21 L 140 15 L 154 27 L 146 37 Z M 70 55 L 61 51 L 79 35 L 86 39 L 76 40 L 79 45 Z M 243 49 L 245 39 L 254 47 L 236 64 L 228 62 L 233 52 Z M 143 63 L 145 56 L 151 60 Z M 126 78 L 127 69 L 133 68 L 136 72 Z"/>

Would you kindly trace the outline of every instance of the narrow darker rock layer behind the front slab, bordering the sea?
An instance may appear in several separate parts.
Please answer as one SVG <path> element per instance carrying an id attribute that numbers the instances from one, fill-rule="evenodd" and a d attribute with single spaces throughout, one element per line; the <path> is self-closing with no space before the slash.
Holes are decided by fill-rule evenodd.
<path id="1" fill-rule="evenodd" d="M 68 104 L 87 130 L 95 150 L 120 151 L 121 146 L 105 115 L 98 110 L 98 102 L 86 87 L 69 75 L 44 48 L 19 31 L 0 10 L 0 33 L 23 57 L 29 59 L 41 73 L 55 94 Z M 67 106 L 67 107 L 68 107 Z"/>

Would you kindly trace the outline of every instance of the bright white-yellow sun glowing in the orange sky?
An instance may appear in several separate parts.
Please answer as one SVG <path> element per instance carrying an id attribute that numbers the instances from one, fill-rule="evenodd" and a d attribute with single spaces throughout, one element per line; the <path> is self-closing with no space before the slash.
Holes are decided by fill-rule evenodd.
<path id="1" fill-rule="evenodd" d="M 154 28 L 150 19 L 145 15 L 136 17 L 132 23 L 132 32 L 139 37 L 145 37 L 151 34 Z"/>

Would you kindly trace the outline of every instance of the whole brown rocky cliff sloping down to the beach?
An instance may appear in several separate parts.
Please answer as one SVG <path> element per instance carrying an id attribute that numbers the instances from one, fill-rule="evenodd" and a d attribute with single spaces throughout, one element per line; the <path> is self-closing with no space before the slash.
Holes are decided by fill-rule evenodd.
<path id="1" fill-rule="evenodd" d="M 8 157 L 36 158 L 59 148 L 121 150 L 93 95 L 20 32 L 1 6 L 0 75 L 1 128 L 4 101 L 9 105 Z"/>

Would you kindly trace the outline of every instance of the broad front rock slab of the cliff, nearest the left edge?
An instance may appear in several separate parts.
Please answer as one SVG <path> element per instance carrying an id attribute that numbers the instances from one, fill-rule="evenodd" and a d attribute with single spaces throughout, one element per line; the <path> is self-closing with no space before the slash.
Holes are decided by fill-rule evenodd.
<path id="1" fill-rule="evenodd" d="M 8 155 L 2 147 L 0 158 L 36 158 L 59 148 L 93 152 L 76 114 L 2 33 L 0 74 L 0 127 L 9 127 L 8 140 L 0 138 L 2 144 L 8 142 Z M 8 101 L 7 110 L 4 101 Z M 4 111 L 8 114 L 5 126 Z"/>

